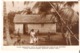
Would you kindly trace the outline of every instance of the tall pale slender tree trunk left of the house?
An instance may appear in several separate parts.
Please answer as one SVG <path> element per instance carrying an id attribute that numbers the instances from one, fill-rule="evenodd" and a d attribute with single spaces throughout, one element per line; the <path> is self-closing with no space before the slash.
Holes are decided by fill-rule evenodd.
<path id="1" fill-rule="evenodd" d="M 7 44 L 11 44 L 11 38 L 10 38 L 10 33 L 9 33 L 9 21 L 8 21 L 8 16 L 6 13 L 6 2 L 4 2 L 4 19 L 5 19 L 5 36 L 6 36 L 6 41 Z"/>

